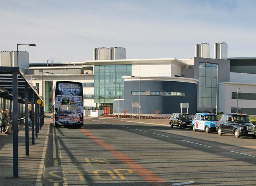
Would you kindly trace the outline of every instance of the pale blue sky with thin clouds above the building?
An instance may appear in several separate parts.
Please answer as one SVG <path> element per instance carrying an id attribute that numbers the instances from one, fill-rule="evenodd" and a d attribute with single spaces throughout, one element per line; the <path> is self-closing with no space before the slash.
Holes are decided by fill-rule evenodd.
<path id="1" fill-rule="evenodd" d="M 228 57 L 256 57 L 256 0 L 0 0 L 0 51 L 30 63 L 93 60 L 97 47 L 126 59 L 195 56 L 195 44 L 228 44 Z"/>

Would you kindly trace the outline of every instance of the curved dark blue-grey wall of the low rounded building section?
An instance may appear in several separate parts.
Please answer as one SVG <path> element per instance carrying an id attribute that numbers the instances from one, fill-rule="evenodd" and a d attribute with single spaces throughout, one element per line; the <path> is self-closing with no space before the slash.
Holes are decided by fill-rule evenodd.
<path id="1" fill-rule="evenodd" d="M 176 81 L 141 81 L 141 91 L 159 92 L 185 92 L 186 96 L 160 96 L 141 95 L 140 105 L 142 114 L 155 114 L 155 110 L 161 110 L 160 114 L 172 114 L 180 112 L 180 103 L 189 103 L 188 112 L 196 114 L 197 84 Z M 124 81 L 124 100 L 120 100 L 120 113 L 127 110 L 132 113 L 132 102 L 139 102 L 138 95 L 131 95 L 132 91 L 139 91 L 139 81 Z M 183 110 L 183 112 L 185 109 Z M 114 113 L 118 112 L 118 101 L 114 101 Z M 137 109 L 134 108 L 134 112 Z"/>

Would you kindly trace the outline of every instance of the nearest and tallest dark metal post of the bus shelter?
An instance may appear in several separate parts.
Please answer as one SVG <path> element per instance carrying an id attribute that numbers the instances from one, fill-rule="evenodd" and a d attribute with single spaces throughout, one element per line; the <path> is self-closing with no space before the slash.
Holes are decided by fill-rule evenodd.
<path id="1" fill-rule="evenodd" d="M 13 177 L 19 177 L 18 159 L 18 72 L 12 72 Z"/>

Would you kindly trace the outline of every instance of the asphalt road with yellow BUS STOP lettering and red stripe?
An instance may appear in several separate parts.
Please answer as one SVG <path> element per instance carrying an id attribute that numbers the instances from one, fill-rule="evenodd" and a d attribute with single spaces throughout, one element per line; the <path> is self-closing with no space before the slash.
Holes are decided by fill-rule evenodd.
<path id="1" fill-rule="evenodd" d="M 255 186 L 256 139 L 108 118 L 50 128 L 46 186 Z"/>

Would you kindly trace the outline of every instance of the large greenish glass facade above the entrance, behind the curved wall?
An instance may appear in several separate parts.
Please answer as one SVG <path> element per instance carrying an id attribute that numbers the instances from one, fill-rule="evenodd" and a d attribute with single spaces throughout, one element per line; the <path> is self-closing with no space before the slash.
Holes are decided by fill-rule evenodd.
<path id="1" fill-rule="evenodd" d="M 114 99 L 124 98 L 124 79 L 132 75 L 132 65 L 95 65 L 94 66 L 94 103 L 112 104 Z M 120 83 L 119 85 L 114 84 Z"/>

